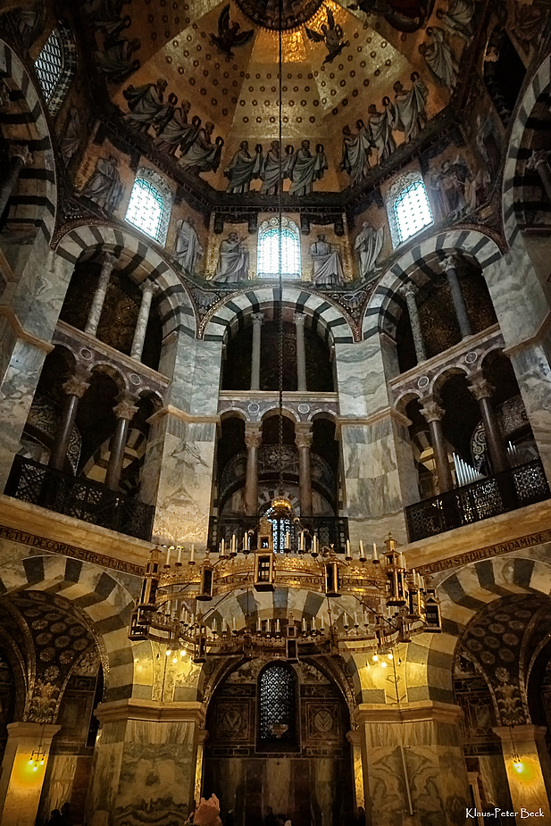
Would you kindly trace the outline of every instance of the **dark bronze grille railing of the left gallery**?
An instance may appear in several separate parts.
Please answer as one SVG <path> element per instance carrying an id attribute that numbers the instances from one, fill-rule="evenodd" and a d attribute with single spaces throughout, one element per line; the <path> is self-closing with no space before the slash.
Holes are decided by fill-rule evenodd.
<path id="1" fill-rule="evenodd" d="M 4 493 L 129 537 L 151 539 L 153 505 L 99 482 L 54 471 L 25 456 L 15 456 Z"/>

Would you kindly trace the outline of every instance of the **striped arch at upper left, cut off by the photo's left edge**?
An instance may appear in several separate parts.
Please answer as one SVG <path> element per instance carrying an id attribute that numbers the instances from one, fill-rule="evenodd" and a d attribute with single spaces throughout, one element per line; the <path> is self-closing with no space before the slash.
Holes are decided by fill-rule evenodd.
<path id="1" fill-rule="evenodd" d="M 49 244 L 55 226 L 57 182 L 50 129 L 33 81 L 13 50 L 0 40 L 0 79 L 13 93 L 13 105 L 2 113 L 12 144 L 27 146 L 32 161 L 20 173 L 10 198 L 7 225 L 38 229 Z"/>

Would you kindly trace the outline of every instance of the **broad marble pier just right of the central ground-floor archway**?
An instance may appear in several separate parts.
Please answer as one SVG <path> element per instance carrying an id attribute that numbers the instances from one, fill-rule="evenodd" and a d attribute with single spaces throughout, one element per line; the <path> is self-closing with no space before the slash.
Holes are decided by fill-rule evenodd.
<path id="1" fill-rule="evenodd" d="M 367 822 L 372 826 L 457 826 L 471 806 L 456 705 L 423 700 L 361 704 Z"/>

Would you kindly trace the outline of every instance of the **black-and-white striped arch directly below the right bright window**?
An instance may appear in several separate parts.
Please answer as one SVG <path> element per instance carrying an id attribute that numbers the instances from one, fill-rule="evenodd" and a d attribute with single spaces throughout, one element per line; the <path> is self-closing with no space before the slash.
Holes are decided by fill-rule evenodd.
<path id="1" fill-rule="evenodd" d="M 438 262 L 454 253 L 471 258 L 482 270 L 503 255 L 493 238 L 475 229 L 441 232 L 413 246 L 385 272 L 373 292 L 363 316 L 363 338 L 383 331 L 394 337 L 397 321 L 405 309 L 405 298 L 398 293 L 398 288 L 410 280 L 422 286 L 435 279 L 441 274 Z"/>

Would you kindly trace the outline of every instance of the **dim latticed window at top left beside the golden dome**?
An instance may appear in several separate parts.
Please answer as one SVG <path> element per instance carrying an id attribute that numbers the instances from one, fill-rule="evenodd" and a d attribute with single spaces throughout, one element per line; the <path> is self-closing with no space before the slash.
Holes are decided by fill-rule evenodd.
<path id="1" fill-rule="evenodd" d="M 50 114 L 61 109 L 77 68 L 77 49 L 71 29 L 59 22 L 35 61 L 38 83 Z"/>

